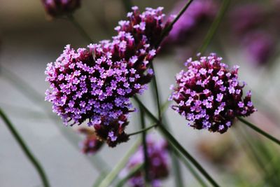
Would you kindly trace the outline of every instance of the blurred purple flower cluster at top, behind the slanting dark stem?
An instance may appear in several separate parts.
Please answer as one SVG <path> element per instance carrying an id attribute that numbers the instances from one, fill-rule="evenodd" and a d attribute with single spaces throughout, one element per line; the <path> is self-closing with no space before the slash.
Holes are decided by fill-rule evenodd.
<path id="1" fill-rule="evenodd" d="M 186 4 L 185 1 L 180 1 L 174 8 L 174 13 L 178 13 L 179 10 Z M 186 10 L 181 18 L 174 24 L 172 31 L 167 37 L 167 43 L 181 43 L 190 34 L 195 32 L 195 29 L 201 22 L 212 20 L 217 12 L 217 4 L 214 0 L 196 0 L 190 4 L 190 7 Z"/>

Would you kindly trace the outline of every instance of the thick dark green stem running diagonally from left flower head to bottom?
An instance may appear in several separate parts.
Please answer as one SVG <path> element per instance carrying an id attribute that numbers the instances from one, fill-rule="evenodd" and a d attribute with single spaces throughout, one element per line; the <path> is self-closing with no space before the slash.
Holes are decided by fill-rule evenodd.
<path id="1" fill-rule="evenodd" d="M 179 142 L 172 136 L 172 134 L 170 134 L 166 128 L 164 127 L 164 125 L 162 125 L 162 123 L 160 122 L 160 120 L 158 120 L 155 116 L 153 116 L 153 113 L 151 113 L 151 111 L 149 111 L 146 106 L 138 99 L 138 97 L 134 97 L 135 101 L 139 104 L 139 106 L 141 106 L 142 109 L 144 109 L 144 111 L 148 114 L 148 116 L 155 121 L 155 123 L 159 123 L 160 125 L 158 126 L 160 128 L 160 131 L 162 132 L 162 134 L 165 135 L 165 137 L 167 138 L 167 140 L 169 141 L 169 143 L 172 145 L 173 148 L 178 149 L 178 151 L 180 151 L 180 153 L 182 153 L 186 158 L 188 158 L 188 160 L 190 160 L 190 162 L 193 163 L 193 165 L 195 165 L 195 167 L 207 178 L 207 180 L 213 185 L 213 186 L 218 186 L 218 183 L 216 183 L 216 181 L 214 181 L 214 179 L 212 179 L 212 177 L 206 172 L 206 170 L 200 165 L 199 162 L 197 162 L 197 160 L 195 160 L 195 158 L 193 158 L 192 155 L 190 155 L 190 153 L 188 153 L 188 151 L 186 151 L 183 146 L 181 146 L 181 144 L 179 144 Z"/>

